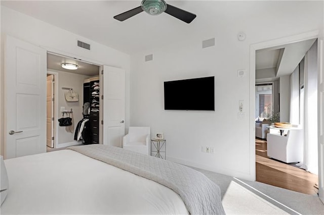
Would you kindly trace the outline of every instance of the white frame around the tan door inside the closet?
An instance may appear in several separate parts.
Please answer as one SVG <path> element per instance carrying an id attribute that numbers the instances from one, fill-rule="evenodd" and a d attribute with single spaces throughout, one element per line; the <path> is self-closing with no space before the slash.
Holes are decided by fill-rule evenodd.
<path id="1" fill-rule="evenodd" d="M 54 75 L 54 122 L 59 119 L 59 73 L 52 70 L 47 70 L 47 74 Z M 54 123 L 54 148 L 56 148 L 59 141 L 59 124 Z"/>

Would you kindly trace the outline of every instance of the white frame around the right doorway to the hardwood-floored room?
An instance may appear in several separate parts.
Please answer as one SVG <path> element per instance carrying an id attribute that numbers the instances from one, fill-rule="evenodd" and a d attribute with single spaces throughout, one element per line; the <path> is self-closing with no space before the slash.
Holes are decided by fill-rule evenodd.
<path id="1" fill-rule="evenodd" d="M 279 39 L 269 40 L 250 46 L 250 174 L 253 181 L 256 180 L 255 167 L 255 53 L 258 49 L 269 48 L 278 45 L 290 44 L 298 41 L 319 37 L 319 31 L 311 31 Z M 319 62 L 318 62 L 319 63 Z M 253 116 L 253 117 L 252 117 Z M 319 144 L 319 143 L 318 143 Z M 318 157 L 323 159 L 323 157 Z M 320 171 L 319 171 L 320 172 Z"/>

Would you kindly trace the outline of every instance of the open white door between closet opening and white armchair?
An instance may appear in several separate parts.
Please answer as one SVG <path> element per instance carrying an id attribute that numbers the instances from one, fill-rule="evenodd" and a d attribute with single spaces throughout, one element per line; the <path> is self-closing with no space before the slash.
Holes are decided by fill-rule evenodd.
<path id="1" fill-rule="evenodd" d="M 125 135 L 125 70 L 103 66 L 103 144 L 121 147 Z"/>

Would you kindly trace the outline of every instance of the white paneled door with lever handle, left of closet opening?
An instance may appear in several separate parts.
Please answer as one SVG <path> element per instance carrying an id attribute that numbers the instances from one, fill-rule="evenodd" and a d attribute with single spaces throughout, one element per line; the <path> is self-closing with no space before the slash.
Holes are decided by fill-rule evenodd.
<path id="1" fill-rule="evenodd" d="M 46 152 L 46 50 L 7 36 L 5 157 Z"/>

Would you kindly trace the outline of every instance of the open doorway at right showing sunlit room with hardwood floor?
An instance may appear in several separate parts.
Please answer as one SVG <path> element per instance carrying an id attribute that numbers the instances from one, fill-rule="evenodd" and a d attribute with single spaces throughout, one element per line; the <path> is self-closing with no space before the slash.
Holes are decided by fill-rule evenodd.
<path id="1" fill-rule="evenodd" d="M 314 47 L 317 48 L 316 38 L 257 49 L 255 53 L 256 126 L 257 124 L 262 124 L 262 122 L 267 123 L 264 126 L 264 131 L 262 130 L 265 134 L 261 137 L 257 135 L 257 127 L 255 129 L 256 181 L 306 194 L 316 194 L 318 192 L 318 167 L 316 171 L 310 171 L 310 168 L 304 168 L 306 169 L 304 170 L 298 167 L 302 166 L 299 165 L 299 162 L 302 162 L 303 159 L 305 160 L 305 158 L 303 158 L 303 151 L 308 150 L 308 146 L 305 145 L 312 141 L 308 141 L 304 137 L 300 138 L 301 151 L 298 153 L 300 153 L 299 157 L 301 158 L 294 160 L 294 162 L 287 162 L 285 159 L 278 158 L 280 156 L 269 156 L 267 150 L 271 143 L 267 141 L 267 133 L 274 130 L 270 127 L 270 123 L 273 123 L 271 116 L 278 113 L 279 119 L 275 122 L 287 122 L 296 125 L 298 129 L 302 130 L 303 134 L 307 135 L 307 132 L 304 131 L 307 129 L 304 120 L 309 117 L 309 115 L 305 114 L 305 112 L 302 113 L 304 107 L 302 102 L 305 100 L 305 95 L 303 94 L 303 77 L 305 77 L 304 71 L 307 71 L 303 61 L 305 55 L 308 56 L 308 58 L 311 57 L 317 60 L 317 56 L 309 54 L 311 50 L 313 53 L 315 52 L 317 54 L 317 49 L 315 51 L 313 50 Z M 314 68 L 314 73 L 317 74 L 317 65 L 315 65 Z M 298 80 L 298 82 L 296 80 Z M 266 105 L 269 103 L 266 102 L 266 100 L 269 101 L 270 97 L 268 96 L 268 99 L 266 99 L 267 93 L 258 92 L 258 87 L 260 87 L 261 90 L 261 86 L 263 84 L 267 85 L 268 83 L 273 83 L 273 103 L 272 107 L 269 109 L 271 111 L 270 114 L 263 114 L 268 112 L 268 110 L 264 108 L 269 106 Z M 295 90 L 294 87 L 296 87 L 297 90 Z M 270 90 L 268 93 L 270 93 Z M 264 94 L 264 96 L 262 94 Z M 262 95 L 261 98 L 260 95 Z M 314 103 L 313 106 L 317 106 L 317 103 Z M 264 118 L 260 120 L 261 116 Z M 296 118 L 296 116 L 298 116 L 298 118 Z M 311 118 L 317 118 L 317 111 L 313 112 Z M 292 133 L 293 131 L 285 129 L 282 135 L 280 133 L 270 135 L 277 135 L 276 137 L 289 139 L 293 136 Z M 317 136 L 317 133 L 313 136 Z M 315 144 L 314 147 L 317 147 L 317 141 L 313 142 L 313 144 Z M 294 147 L 296 148 L 297 146 L 295 145 Z M 288 154 L 289 153 L 290 152 L 288 152 Z M 317 151 L 314 153 L 317 154 Z"/>

